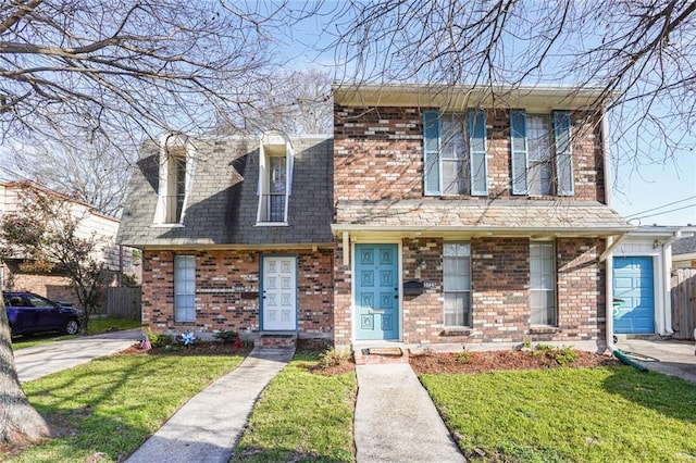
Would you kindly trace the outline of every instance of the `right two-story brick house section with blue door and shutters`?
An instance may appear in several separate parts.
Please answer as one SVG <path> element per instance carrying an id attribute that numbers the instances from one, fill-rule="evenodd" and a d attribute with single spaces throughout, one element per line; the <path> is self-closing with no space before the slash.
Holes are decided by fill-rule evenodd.
<path id="1" fill-rule="evenodd" d="M 495 97 L 334 89 L 336 345 L 604 350 L 609 246 L 632 227 L 584 110 L 599 93 Z"/>

